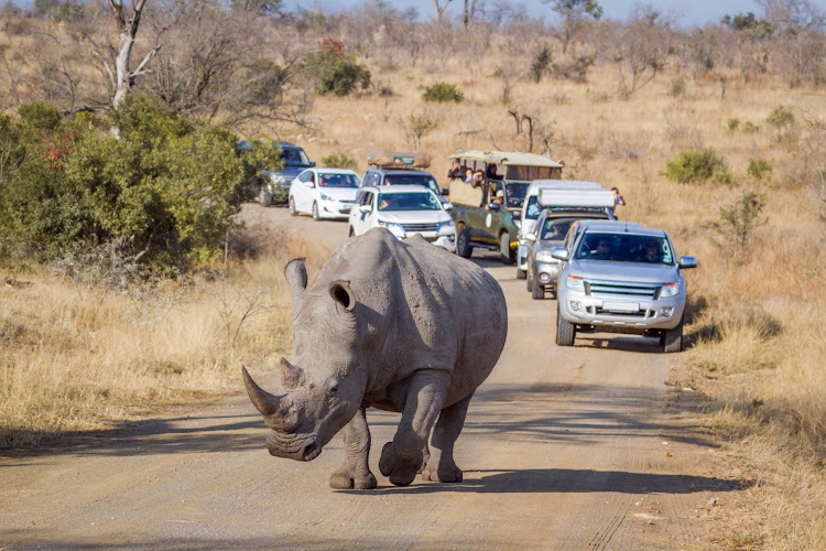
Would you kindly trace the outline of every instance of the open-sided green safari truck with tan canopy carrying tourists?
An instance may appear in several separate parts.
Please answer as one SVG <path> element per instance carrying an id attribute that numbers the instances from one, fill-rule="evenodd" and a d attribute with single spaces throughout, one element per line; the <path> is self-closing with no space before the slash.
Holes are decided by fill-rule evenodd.
<path id="1" fill-rule="evenodd" d="M 450 216 L 456 222 L 456 253 L 469 258 L 474 247 L 498 250 L 502 262 L 517 259 L 522 203 L 533 180 L 559 179 L 565 166 L 536 153 L 518 151 L 456 150 L 452 159 L 467 169 L 481 171 L 481 183 L 449 182 Z M 501 204 L 496 199 L 501 192 Z"/>

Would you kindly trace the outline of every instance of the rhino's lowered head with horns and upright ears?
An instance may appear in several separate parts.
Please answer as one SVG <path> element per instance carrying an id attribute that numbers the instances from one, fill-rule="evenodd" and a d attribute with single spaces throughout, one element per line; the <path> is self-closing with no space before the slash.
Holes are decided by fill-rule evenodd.
<path id="1" fill-rule="evenodd" d="M 293 294 L 295 348 L 293 361 L 281 358 L 287 390 L 267 392 L 242 368 L 247 393 L 271 429 L 271 455 L 311 461 L 356 414 L 367 375 L 356 361 L 356 299 L 349 282 L 337 280 L 328 289 L 307 291 L 304 259 L 284 270 Z M 320 291 L 320 292 L 317 292 Z"/>

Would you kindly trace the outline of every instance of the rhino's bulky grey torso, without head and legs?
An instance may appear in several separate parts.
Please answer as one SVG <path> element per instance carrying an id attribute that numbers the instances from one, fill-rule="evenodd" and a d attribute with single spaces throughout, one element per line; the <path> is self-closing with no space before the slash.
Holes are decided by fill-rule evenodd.
<path id="1" fill-rule="evenodd" d="M 400 241 L 379 228 L 349 239 L 312 291 L 326 292 L 336 280 L 348 281 L 358 302 L 357 346 L 376 370 L 371 386 L 444 369 L 452 372 L 452 397 L 460 399 L 488 377 L 504 347 L 508 312 L 499 283 L 421 237 Z"/>

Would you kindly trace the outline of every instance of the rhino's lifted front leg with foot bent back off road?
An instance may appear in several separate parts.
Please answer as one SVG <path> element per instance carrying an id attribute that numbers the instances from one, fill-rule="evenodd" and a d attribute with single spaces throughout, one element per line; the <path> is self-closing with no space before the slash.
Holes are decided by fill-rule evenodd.
<path id="1" fill-rule="evenodd" d="M 379 471 L 396 486 L 407 486 L 422 468 L 422 451 L 447 396 L 450 375 L 425 369 L 410 377 L 402 420 L 392 442 L 384 444 Z"/>

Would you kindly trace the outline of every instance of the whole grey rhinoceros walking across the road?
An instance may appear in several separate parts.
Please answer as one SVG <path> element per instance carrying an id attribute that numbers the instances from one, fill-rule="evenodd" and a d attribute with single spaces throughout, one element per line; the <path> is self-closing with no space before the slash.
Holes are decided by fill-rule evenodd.
<path id="1" fill-rule="evenodd" d="M 345 462 L 329 484 L 374 488 L 366 417 L 374 407 L 402 413 L 379 461 L 392 484 L 406 486 L 419 472 L 425 480 L 461 482 L 454 443 L 508 333 L 499 283 L 420 236 L 400 241 L 383 228 L 334 251 L 309 289 L 304 259 L 284 273 L 294 328 L 292 360 L 281 358 L 286 393 L 264 391 L 242 368 L 271 429 L 270 454 L 311 461 L 346 426 Z"/>

